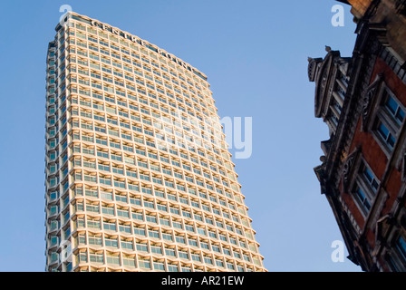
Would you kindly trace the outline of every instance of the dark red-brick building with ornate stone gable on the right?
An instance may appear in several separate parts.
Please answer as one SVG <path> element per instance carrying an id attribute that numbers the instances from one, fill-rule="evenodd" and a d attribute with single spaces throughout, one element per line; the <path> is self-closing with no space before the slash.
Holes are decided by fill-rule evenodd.
<path id="1" fill-rule="evenodd" d="M 363 271 L 406 271 L 406 1 L 349 0 L 352 57 L 309 58 L 314 114 L 330 139 L 314 169 Z"/>

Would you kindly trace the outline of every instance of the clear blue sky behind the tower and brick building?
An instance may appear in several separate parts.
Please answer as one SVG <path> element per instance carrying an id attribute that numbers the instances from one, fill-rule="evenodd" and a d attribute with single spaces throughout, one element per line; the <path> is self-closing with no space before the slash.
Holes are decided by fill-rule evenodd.
<path id="1" fill-rule="evenodd" d="M 45 54 L 65 4 L 206 73 L 221 117 L 253 118 L 253 155 L 235 162 L 269 271 L 360 271 L 331 259 L 342 237 L 313 171 L 328 131 L 307 57 L 351 56 L 355 40 L 349 7 L 331 24 L 333 0 L 3 2 L 0 271 L 44 270 Z"/>

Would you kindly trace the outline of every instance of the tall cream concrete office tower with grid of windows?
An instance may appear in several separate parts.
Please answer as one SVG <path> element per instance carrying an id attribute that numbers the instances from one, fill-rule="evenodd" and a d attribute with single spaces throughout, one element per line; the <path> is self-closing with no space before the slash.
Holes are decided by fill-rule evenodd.
<path id="1" fill-rule="evenodd" d="M 266 271 L 207 77 L 69 13 L 47 54 L 47 271 Z"/>

